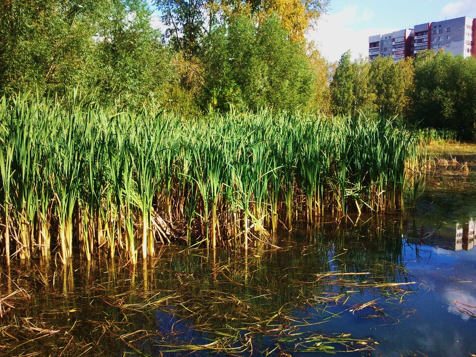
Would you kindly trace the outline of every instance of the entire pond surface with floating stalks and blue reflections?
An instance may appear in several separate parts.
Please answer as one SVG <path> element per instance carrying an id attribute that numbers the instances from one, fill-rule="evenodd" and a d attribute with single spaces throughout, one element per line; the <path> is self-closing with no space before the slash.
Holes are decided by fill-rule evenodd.
<path id="1" fill-rule="evenodd" d="M 402 216 L 298 225 L 279 248 L 163 247 L 135 268 L 14 262 L 0 274 L 0 353 L 475 355 L 473 160 L 429 174 Z"/>

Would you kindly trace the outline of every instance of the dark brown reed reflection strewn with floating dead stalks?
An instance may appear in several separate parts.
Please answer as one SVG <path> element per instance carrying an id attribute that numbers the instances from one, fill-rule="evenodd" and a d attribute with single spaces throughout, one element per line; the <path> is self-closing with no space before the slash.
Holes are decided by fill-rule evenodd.
<path id="1" fill-rule="evenodd" d="M 12 280 L 30 295 L 21 304 L 10 300 L 15 308 L 3 317 L 0 353 L 370 351 L 366 336 L 326 334 L 320 326 L 352 313 L 395 322 L 393 309 L 414 286 L 400 266 L 401 239 L 397 228 L 378 225 L 327 229 L 334 235 L 280 236 L 285 248 L 249 256 L 163 248 L 137 266 L 14 262 Z M 357 243 L 365 249 L 348 249 Z M 46 338 L 52 331 L 59 332 Z"/>

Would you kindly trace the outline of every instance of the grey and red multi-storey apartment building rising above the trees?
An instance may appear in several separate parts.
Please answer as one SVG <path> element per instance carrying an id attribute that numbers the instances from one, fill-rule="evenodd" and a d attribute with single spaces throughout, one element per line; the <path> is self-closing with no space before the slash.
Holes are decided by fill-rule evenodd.
<path id="1" fill-rule="evenodd" d="M 369 37 L 369 58 L 393 56 L 394 61 L 415 57 L 424 50 L 451 52 L 476 57 L 476 19 L 456 19 L 425 23 L 392 33 Z"/>

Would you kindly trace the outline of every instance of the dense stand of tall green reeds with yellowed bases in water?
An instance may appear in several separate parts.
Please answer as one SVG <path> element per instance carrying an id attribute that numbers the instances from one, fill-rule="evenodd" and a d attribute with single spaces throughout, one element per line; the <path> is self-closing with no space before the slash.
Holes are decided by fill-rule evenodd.
<path id="1" fill-rule="evenodd" d="M 20 94 L 0 101 L 5 261 L 80 252 L 135 264 L 158 242 L 247 250 L 349 211 L 394 211 L 418 140 L 394 121 L 161 110 Z"/>

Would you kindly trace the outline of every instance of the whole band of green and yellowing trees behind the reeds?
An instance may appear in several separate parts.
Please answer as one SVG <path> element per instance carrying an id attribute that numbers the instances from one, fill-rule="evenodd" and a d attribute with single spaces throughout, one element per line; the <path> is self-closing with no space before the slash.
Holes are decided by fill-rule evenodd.
<path id="1" fill-rule="evenodd" d="M 260 107 L 366 113 L 476 138 L 474 57 L 427 51 L 370 63 L 347 51 L 328 63 L 302 36 L 327 5 L 292 12 L 279 0 L 157 0 L 160 33 L 146 0 L 1 1 L 0 94 L 187 117 Z"/>

